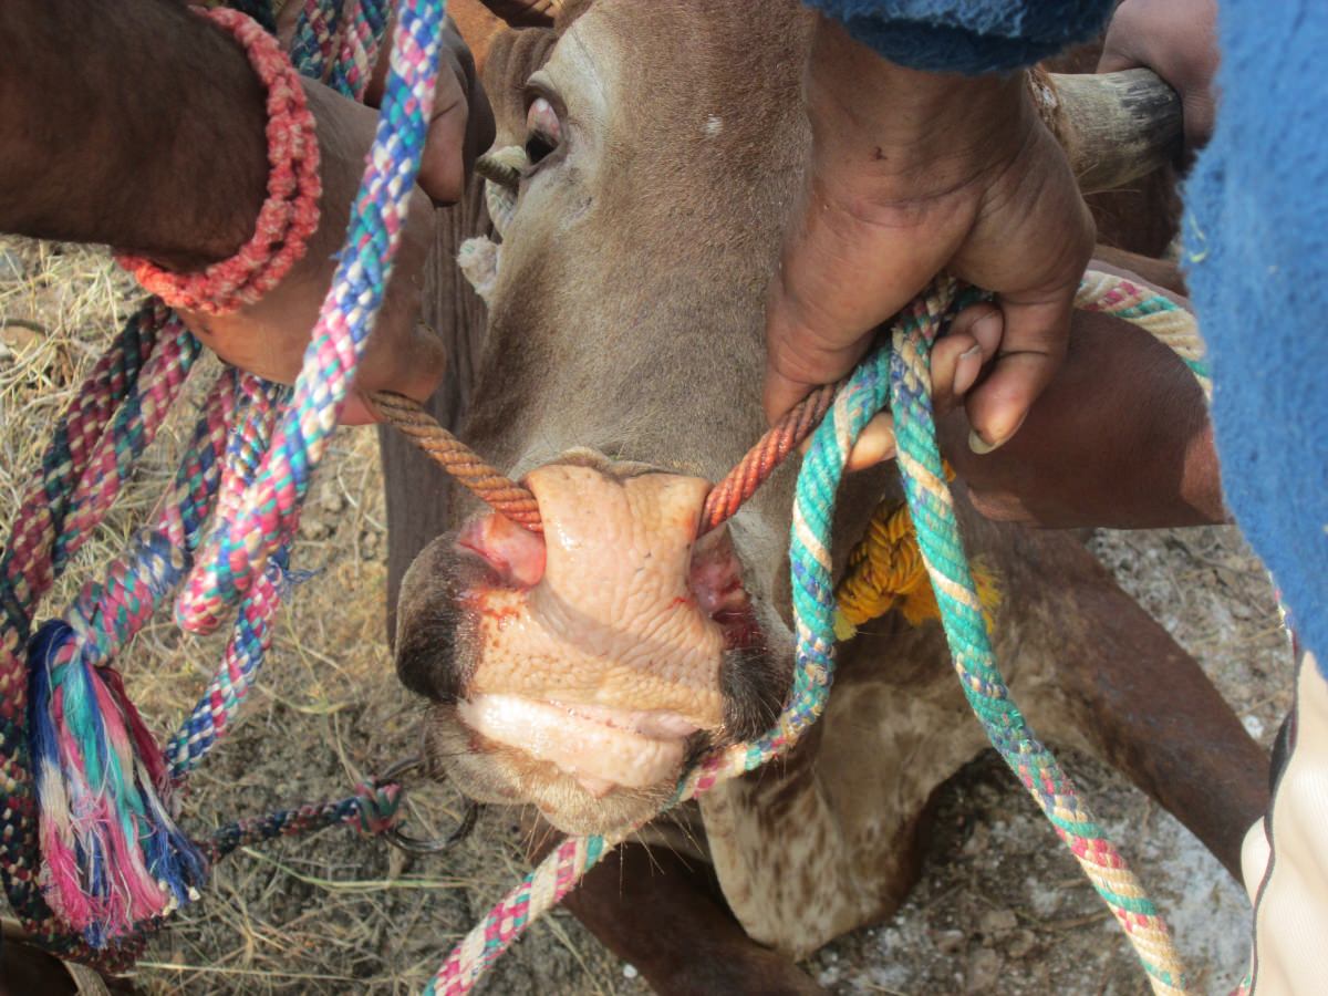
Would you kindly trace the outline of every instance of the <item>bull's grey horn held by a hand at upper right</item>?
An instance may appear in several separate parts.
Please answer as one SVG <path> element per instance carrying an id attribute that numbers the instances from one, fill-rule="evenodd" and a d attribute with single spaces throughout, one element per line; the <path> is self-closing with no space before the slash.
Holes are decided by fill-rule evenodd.
<path id="1" fill-rule="evenodd" d="M 1117 190 L 1179 159 L 1181 97 L 1147 69 L 1049 73 L 1033 80 L 1033 90 L 1085 194 Z"/>

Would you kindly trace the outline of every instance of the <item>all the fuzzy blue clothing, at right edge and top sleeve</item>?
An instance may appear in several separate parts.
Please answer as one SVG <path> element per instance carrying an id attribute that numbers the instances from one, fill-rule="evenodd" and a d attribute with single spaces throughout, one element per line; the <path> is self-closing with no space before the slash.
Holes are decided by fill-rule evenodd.
<path id="1" fill-rule="evenodd" d="M 809 0 L 883 56 L 975 72 L 1090 33 L 1089 0 Z M 1328 677 L 1328 4 L 1222 0 L 1216 133 L 1185 190 L 1227 503 Z"/>

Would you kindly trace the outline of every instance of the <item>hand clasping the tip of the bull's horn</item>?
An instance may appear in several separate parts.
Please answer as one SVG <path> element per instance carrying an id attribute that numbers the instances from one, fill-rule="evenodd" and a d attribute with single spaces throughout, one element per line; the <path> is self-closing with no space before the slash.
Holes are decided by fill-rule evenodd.
<path id="1" fill-rule="evenodd" d="M 1106 31 L 1097 72 L 1142 66 L 1181 94 L 1185 145 L 1195 151 L 1212 135 L 1218 72 L 1216 0 L 1125 0 Z"/>

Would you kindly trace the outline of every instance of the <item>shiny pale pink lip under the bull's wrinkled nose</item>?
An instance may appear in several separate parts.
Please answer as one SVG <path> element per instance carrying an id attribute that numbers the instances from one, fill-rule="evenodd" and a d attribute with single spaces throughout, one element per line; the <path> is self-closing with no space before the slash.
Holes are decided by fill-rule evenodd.
<path id="1" fill-rule="evenodd" d="M 676 713 L 514 695 L 477 695 L 457 703 L 457 713 L 475 733 L 555 765 L 596 798 L 675 780 L 697 729 Z"/>

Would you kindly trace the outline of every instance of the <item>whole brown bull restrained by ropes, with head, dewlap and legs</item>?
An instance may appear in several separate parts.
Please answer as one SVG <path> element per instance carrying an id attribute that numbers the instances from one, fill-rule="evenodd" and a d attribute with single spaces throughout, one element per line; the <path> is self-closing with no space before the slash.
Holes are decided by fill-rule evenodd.
<path id="1" fill-rule="evenodd" d="M 611 830 L 780 708 L 794 471 L 696 533 L 709 482 L 765 428 L 762 305 L 809 158 L 809 27 L 791 0 L 757 16 L 598 0 L 489 52 L 498 145 L 529 166 L 487 307 L 452 263 L 491 231 L 478 189 L 444 220 L 426 320 L 453 363 L 430 409 L 525 481 L 543 537 L 474 511 L 384 436 L 396 665 L 429 703 L 430 764 L 474 799 Z M 1104 157 L 1084 124 L 1062 137 L 1090 185 L 1157 157 Z M 1072 360 L 1127 335 L 1080 315 Z M 1151 363 L 1178 365 L 1161 348 Z M 846 483 L 837 564 L 898 493 L 890 469 Z M 961 491 L 960 514 L 1000 578 L 996 652 L 1033 725 L 1116 766 L 1236 874 L 1267 761 L 1195 661 L 1074 535 L 991 522 Z M 841 648 L 827 712 L 788 758 L 691 805 L 676 851 L 623 847 L 568 904 L 659 991 L 815 991 L 790 959 L 902 903 L 938 789 L 985 746 L 939 628 L 887 616 Z"/>

